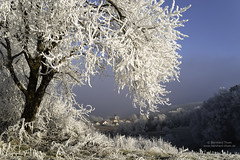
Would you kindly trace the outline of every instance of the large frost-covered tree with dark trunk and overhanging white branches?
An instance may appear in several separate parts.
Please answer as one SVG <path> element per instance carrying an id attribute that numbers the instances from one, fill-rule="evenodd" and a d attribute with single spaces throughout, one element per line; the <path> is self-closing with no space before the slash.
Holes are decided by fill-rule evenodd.
<path id="1" fill-rule="evenodd" d="M 55 89 L 74 101 L 72 87 L 109 65 L 119 90 L 128 87 L 140 110 L 167 104 L 165 83 L 178 79 L 176 28 L 188 9 L 164 0 L 1 0 L 0 74 L 4 96 L 17 89 L 26 122 Z M 9 80 L 12 79 L 12 80 Z M 6 79 L 9 83 L 6 83 Z M 7 87 L 6 87 L 7 84 Z M 46 92 L 49 85 L 55 85 Z"/>

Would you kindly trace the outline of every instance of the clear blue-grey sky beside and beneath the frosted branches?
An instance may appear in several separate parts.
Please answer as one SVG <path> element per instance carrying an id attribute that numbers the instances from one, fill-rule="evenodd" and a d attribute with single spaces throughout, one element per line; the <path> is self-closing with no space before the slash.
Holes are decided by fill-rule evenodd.
<path id="1" fill-rule="evenodd" d="M 166 0 L 171 4 L 172 0 Z M 189 35 L 181 41 L 180 82 L 167 84 L 171 103 L 184 104 L 207 100 L 219 87 L 240 84 L 240 0 L 176 0 L 180 7 L 192 7 L 183 13 L 189 21 L 179 28 Z M 126 91 L 117 93 L 113 76 L 95 77 L 93 88 L 75 89 L 77 100 L 96 108 L 93 114 L 120 116 L 138 113 Z M 162 107 L 162 106 L 159 106 Z"/>

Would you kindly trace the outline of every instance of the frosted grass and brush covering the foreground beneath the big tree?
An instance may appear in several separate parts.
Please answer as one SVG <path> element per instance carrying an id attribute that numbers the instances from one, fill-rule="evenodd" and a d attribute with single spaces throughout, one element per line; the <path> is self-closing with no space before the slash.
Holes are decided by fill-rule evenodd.
<path id="1" fill-rule="evenodd" d="M 32 134 L 26 133 L 22 121 L 3 132 L 0 137 L 0 159 L 240 159 L 239 154 L 192 152 L 176 148 L 161 138 L 110 138 L 74 118 L 74 110 L 66 111 L 64 106 L 54 107 L 40 112 L 33 124 L 35 129 Z"/>

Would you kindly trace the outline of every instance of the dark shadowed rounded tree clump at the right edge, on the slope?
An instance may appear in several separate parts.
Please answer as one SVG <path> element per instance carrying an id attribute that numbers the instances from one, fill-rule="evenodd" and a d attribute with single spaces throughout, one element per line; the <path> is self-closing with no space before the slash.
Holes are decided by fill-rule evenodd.
<path id="1" fill-rule="evenodd" d="M 207 141 L 240 142 L 240 85 L 229 91 L 221 88 L 219 93 L 205 101 L 196 110 L 190 127 L 197 143 Z"/>

